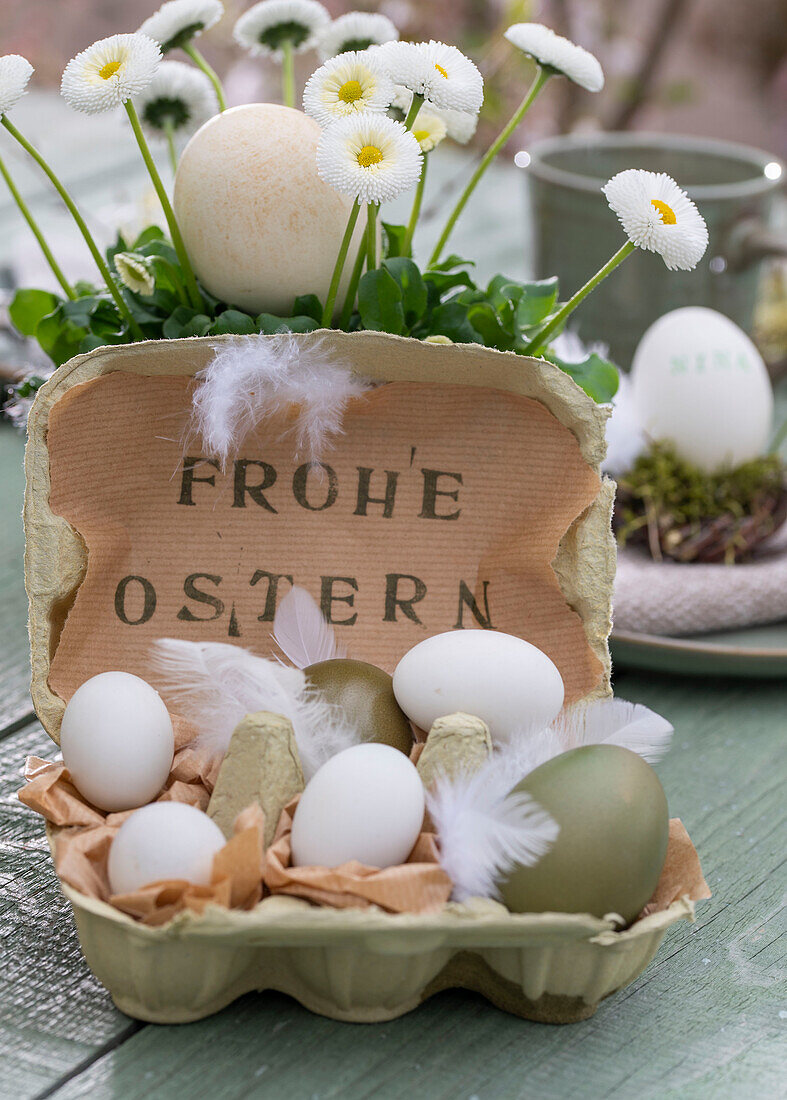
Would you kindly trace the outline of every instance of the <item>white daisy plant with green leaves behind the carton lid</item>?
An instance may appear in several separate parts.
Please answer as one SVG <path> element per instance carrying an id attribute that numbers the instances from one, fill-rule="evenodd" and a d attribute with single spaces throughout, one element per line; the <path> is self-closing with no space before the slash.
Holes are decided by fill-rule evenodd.
<path id="1" fill-rule="evenodd" d="M 32 65 L 18 55 L 0 58 L 0 119 L 13 141 L 36 162 L 69 211 L 96 265 L 94 282 L 72 283 L 46 242 L 4 163 L 0 174 L 50 265 L 59 293 L 25 288 L 10 314 L 17 329 L 37 340 L 55 366 L 106 344 L 223 333 L 303 332 L 317 328 L 378 330 L 433 342 L 477 343 L 551 360 L 598 402 L 615 389 L 614 366 L 598 354 L 566 362 L 554 341 L 571 312 L 635 249 L 662 256 L 668 268 L 692 268 L 708 233 L 695 205 L 663 174 L 630 169 L 603 188 L 625 240 L 588 283 L 561 298 L 556 278 L 520 282 L 500 274 L 478 285 L 472 264 L 448 252 L 453 229 L 479 180 L 554 79 L 572 80 L 589 94 L 603 87 L 592 54 L 537 23 L 516 23 L 509 45 L 535 65 L 520 106 L 471 170 L 431 254 L 418 252 L 418 224 L 427 166 L 444 142 L 467 143 L 483 103 L 483 79 L 474 63 L 441 42 L 403 42 L 384 15 L 349 12 L 331 20 L 318 0 L 262 0 L 238 19 L 236 42 L 253 57 L 281 67 L 285 106 L 303 107 L 319 128 L 313 155 L 315 180 L 349 206 L 335 229 L 330 277 L 320 293 L 303 287 L 289 311 L 252 311 L 215 285 L 196 264 L 182 231 L 177 202 L 165 186 L 153 150 L 173 172 L 195 132 L 227 108 L 221 80 L 197 48 L 199 36 L 223 15 L 220 0 L 170 0 L 133 33 L 94 43 L 70 61 L 62 94 L 76 111 L 122 111 L 161 202 L 164 227 L 136 240 L 119 235 L 102 250 L 62 179 L 14 124 Z M 295 58 L 320 62 L 302 97 Z M 172 55 L 179 55 L 173 59 Z M 384 206 L 412 195 L 404 224 L 385 218 Z M 39 380 L 18 396 L 26 403 Z"/>

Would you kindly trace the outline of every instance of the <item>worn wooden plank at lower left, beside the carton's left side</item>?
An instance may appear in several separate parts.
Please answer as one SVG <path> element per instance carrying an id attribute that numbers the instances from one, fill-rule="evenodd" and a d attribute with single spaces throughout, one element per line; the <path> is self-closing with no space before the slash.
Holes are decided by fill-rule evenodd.
<path id="1" fill-rule="evenodd" d="M 26 1100 L 139 1025 L 112 1005 L 79 953 L 42 820 L 17 800 L 37 724 L 0 741 L 0 1097 Z"/>

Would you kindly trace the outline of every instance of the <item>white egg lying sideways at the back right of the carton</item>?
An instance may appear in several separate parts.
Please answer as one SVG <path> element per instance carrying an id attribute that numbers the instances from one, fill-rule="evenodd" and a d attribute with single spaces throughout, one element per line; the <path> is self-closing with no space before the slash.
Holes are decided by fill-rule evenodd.
<path id="1" fill-rule="evenodd" d="M 562 706 L 562 676 L 546 653 L 498 630 L 449 630 L 414 646 L 393 675 L 396 702 L 420 729 L 458 711 L 492 738 L 548 725 Z"/>

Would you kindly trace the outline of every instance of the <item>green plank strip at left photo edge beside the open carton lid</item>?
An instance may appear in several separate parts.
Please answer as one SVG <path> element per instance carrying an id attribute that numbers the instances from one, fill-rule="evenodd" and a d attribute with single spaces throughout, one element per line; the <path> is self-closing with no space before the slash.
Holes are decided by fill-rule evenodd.
<path id="1" fill-rule="evenodd" d="M 22 558 L 22 497 L 24 437 L 0 424 L 0 730 L 32 715 L 28 653 L 28 597 Z"/>

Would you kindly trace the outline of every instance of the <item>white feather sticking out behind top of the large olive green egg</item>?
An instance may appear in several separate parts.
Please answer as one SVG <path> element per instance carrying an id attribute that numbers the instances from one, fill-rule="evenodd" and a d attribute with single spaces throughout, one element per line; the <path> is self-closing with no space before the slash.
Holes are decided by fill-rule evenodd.
<path id="1" fill-rule="evenodd" d="M 555 723 L 562 752 L 582 745 L 620 745 L 655 763 L 669 748 L 674 728 L 641 703 L 599 698 L 568 707 Z"/>

